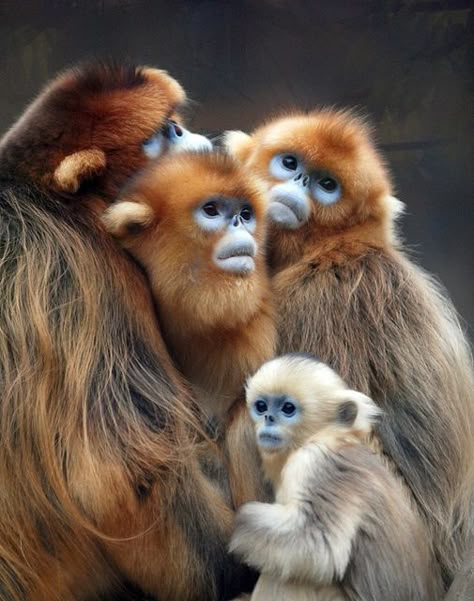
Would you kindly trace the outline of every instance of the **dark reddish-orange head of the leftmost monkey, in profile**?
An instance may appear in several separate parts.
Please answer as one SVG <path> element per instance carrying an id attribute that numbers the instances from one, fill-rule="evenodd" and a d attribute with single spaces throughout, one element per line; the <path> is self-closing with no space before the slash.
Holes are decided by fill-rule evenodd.
<path id="1" fill-rule="evenodd" d="M 95 62 L 65 71 L 0 142 L 2 174 L 66 198 L 111 200 L 151 158 L 178 148 L 210 148 L 186 131 L 186 101 L 165 71 Z"/>

